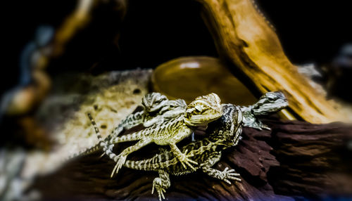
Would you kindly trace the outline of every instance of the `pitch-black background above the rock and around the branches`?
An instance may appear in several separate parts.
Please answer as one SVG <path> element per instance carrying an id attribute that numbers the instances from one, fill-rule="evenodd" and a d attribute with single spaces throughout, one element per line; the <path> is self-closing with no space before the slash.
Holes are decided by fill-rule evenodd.
<path id="1" fill-rule="evenodd" d="M 341 45 L 351 41 L 351 6 L 348 1 L 257 1 L 277 30 L 293 63 L 327 63 Z M 4 53 L 0 92 L 18 82 L 20 52 L 39 25 L 61 25 L 75 1 L 10 1 L 1 6 Z M 82 30 L 49 73 L 156 67 L 180 56 L 217 56 L 213 39 L 189 0 L 130 0 L 121 23 L 108 6 L 94 11 L 93 21 Z M 3 12 L 4 13 L 4 12 Z M 117 43 L 115 35 L 121 32 Z"/>

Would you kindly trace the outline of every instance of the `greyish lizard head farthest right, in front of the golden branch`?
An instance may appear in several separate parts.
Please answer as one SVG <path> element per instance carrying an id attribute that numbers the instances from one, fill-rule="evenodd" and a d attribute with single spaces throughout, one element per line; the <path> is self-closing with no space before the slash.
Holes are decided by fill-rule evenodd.
<path id="1" fill-rule="evenodd" d="M 287 102 L 284 93 L 280 91 L 268 92 L 261 96 L 256 104 L 253 105 L 253 115 L 269 115 L 273 112 L 278 112 L 286 108 L 289 103 Z"/>

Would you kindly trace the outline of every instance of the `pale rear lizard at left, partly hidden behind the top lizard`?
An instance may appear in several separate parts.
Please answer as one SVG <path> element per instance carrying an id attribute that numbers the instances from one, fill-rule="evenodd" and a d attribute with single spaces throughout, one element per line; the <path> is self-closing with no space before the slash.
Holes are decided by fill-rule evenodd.
<path id="1" fill-rule="evenodd" d="M 105 139 L 99 134 L 99 143 L 70 156 L 68 159 L 94 153 L 100 148 L 103 148 L 104 151 L 109 150 L 111 152 L 113 149 L 112 141 L 114 141 L 123 130 L 131 129 L 139 124 L 143 124 L 144 127 L 151 127 L 153 124 L 162 124 L 165 120 L 183 115 L 187 108 L 187 104 L 184 100 L 168 100 L 166 96 L 156 92 L 146 94 L 146 96 L 142 98 L 142 106 L 144 110 L 128 115 Z"/>

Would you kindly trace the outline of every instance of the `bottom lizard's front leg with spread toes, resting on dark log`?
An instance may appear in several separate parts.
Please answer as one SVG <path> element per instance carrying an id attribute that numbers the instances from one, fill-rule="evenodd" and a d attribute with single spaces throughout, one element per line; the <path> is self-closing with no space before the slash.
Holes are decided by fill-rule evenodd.
<path id="1" fill-rule="evenodd" d="M 238 177 L 240 176 L 237 173 L 234 173 L 234 169 L 230 169 L 226 167 L 223 171 L 220 171 L 218 169 L 213 169 L 211 168 L 216 162 L 220 160 L 221 153 L 218 153 L 216 155 L 213 155 L 213 157 L 209 157 L 208 160 L 201 164 L 201 169 L 203 170 L 204 173 L 208 174 L 209 176 L 212 176 L 216 179 L 220 179 L 222 181 L 225 181 L 226 183 L 231 184 L 229 179 L 235 180 L 235 181 L 241 181 Z"/>

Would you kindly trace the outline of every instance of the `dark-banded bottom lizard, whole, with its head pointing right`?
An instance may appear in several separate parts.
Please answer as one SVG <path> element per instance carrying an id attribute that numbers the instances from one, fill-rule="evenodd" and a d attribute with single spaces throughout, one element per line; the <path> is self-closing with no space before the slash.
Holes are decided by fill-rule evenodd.
<path id="1" fill-rule="evenodd" d="M 220 160 L 221 151 L 237 145 L 240 140 L 242 126 L 258 127 L 262 124 L 258 119 L 254 119 L 254 123 L 246 123 L 244 120 L 256 118 L 261 115 L 268 115 L 272 112 L 282 110 L 287 106 L 287 100 L 281 92 L 269 92 L 258 100 L 258 102 L 249 107 L 239 107 L 232 104 L 222 104 L 223 115 L 220 119 L 211 122 L 208 126 L 208 137 L 203 140 L 184 145 L 181 151 L 189 152 L 190 160 L 194 160 L 197 164 L 194 168 L 184 167 L 180 164 L 172 151 L 165 151 L 148 160 L 131 161 L 127 160 L 125 167 L 131 169 L 139 169 L 144 171 L 158 171 L 159 177 L 153 181 L 153 189 L 158 192 L 159 200 L 165 199 L 163 193 L 165 189 L 170 187 L 169 174 L 182 175 L 190 174 L 196 169 L 201 169 L 204 173 L 216 179 L 220 179 L 230 184 L 230 180 L 241 181 L 239 174 L 234 172 L 234 169 L 225 168 L 223 171 L 211 168 L 216 162 Z M 244 116 L 246 112 L 251 112 L 253 115 Z M 247 114 L 248 115 L 248 114 Z M 99 132 L 98 127 L 94 121 L 93 125 L 96 131 Z M 248 121 L 247 121 L 248 122 Z"/>

